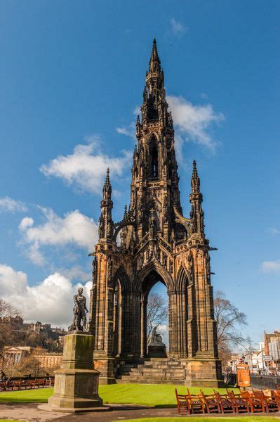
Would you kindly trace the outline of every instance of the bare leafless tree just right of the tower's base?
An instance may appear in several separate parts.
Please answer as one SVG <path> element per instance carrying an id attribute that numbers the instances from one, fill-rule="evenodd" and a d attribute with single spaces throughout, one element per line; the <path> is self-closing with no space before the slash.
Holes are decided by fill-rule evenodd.
<path id="1" fill-rule="evenodd" d="M 218 351 L 222 361 L 232 354 L 232 348 L 248 343 L 241 333 L 247 325 L 246 314 L 230 302 L 221 290 L 215 292 L 214 315 L 217 321 Z"/>

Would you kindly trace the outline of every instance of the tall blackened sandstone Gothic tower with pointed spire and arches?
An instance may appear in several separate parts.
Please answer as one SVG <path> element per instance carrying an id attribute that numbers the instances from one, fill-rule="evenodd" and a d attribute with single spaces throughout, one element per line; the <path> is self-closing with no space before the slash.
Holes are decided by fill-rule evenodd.
<path id="1" fill-rule="evenodd" d="M 116 382 L 129 364 L 145 369 L 147 298 L 161 281 L 167 288 L 169 309 L 169 352 L 161 359 L 165 368 L 171 368 L 166 381 L 217 387 L 221 365 L 200 181 L 194 161 L 191 209 L 189 217 L 183 217 L 173 120 L 155 40 L 136 136 L 131 202 L 121 222 L 112 219 L 109 170 L 103 188 L 91 290 L 95 367 L 103 383 Z"/>

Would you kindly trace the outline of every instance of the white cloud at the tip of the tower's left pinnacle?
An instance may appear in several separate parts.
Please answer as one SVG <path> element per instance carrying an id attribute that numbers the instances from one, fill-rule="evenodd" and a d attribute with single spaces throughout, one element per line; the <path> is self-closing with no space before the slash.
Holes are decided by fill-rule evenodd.
<path id="1" fill-rule="evenodd" d="M 75 146 L 72 154 L 59 155 L 48 164 L 41 166 L 45 176 L 60 177 L 69 185 L 83 191 L 100 193 L 109 167 L 112 177 L 120 177 L 131 158 L 124 152 L 123 157 L 109 157 L 102 153 L 100 140 L 91 136 L 87 145 Z"/>

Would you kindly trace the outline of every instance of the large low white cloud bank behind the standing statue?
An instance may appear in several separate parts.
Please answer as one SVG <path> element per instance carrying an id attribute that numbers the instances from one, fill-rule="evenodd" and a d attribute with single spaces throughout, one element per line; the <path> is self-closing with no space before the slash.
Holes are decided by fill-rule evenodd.
<path id="1" fill-rule="evenodd" d="M 67 277 L 58 272 L 35 286 L 29 286 L 27 274 L 0 264 L 0 297 L 15 305 L 27 321 L 69 326 L 72 323 L 73 295 L 78 286 L 83 285 L 72 285 Z M 84 295 L 89 298 L 91 281 L 83 287 Z M 89 300 L 87 303 L 89 307 Z"/>

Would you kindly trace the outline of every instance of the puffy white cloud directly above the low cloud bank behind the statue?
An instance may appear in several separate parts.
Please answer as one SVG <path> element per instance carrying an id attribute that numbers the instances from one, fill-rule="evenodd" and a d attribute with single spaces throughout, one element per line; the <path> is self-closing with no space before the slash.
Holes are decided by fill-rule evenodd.
<path id="1" fill-rule="evenodd" d="M 30 217 L 20 222 L 22 242 L 29 245 L 27 255 L 35 264 L 44 264 L 40 248 L 44 245 L 63 246 L 74 244 L 79 248 L 91 250 L 98 240 L 98 225 L 93 219 L 81 214 L 79 210 L 68 212 L 59 217 L 50 208 L 40 207 L 46 222 L 34 226 Z"/>

